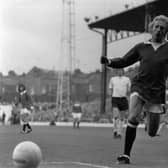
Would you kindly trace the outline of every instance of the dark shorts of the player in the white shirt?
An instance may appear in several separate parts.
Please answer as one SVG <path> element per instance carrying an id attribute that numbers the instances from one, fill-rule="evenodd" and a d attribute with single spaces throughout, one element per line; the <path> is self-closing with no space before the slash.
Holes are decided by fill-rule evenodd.
<path id="1" fill-rule="evenodd" d="M 112 97 L 112 107 L 118 108 L 120 111 L 128 110 L 128 100 L 126 97 Z"/>

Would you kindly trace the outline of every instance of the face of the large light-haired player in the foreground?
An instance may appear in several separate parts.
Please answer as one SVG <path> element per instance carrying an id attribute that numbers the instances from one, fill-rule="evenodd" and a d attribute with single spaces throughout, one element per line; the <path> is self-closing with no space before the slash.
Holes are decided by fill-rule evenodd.
<path id="1" fill-rule="evenodd" d="M 157 20 L 153 24 L 152 28 L 152 40 L 154 42 L 161 43 L 166 36 L 166 23 L 162 20 Z"/>

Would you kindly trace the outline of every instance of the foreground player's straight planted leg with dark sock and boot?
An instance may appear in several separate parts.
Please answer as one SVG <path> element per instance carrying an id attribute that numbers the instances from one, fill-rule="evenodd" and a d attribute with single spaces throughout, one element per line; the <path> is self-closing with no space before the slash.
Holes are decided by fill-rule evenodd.
<path id="1" fill-rule="evenodd" d="M 123 155 L 117 158 L 119 163 L 129 164 L 130 153 L 136 138 L 136 130 L 139 124 L 139 115 L 142 111 L 144 101 L 135 93 L 130 97 L 128 124 L 125 132 L 125 144 Z"/>

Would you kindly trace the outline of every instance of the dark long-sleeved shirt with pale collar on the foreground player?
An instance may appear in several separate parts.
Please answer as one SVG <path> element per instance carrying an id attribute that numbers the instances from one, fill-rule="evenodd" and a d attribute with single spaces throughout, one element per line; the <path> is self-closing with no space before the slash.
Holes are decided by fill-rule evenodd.
<path id="1" fill-rule="evenodd" d="M 154 50 L 150 43 L 139 43 L 124 57 L 111 59 L 109 67 L 124 68 L 140 62 L 139 70 L 132 80 L 131 92 L 138 92 L 153 104 L 165 103 L 168 69 L 168 43 Z"/>

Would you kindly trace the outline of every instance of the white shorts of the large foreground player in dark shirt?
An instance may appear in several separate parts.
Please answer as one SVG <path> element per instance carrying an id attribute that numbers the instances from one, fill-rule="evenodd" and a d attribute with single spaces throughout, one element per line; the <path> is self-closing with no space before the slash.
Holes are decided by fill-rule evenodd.
<path id="1" fill-rule="evenodd" d="M 164 104 L 152 104 L 149 103 L 148 101 L 146 101 L 141 95 L 139 95 L 138 92 L 133 92 L 130 96 L 130 98 L 132 98 L 133 96 L 138 96 L 140 97 L 142 100 L 145 101 L 145 105 L 144 105 L 144 110 L 146 110 L 147 112 L 151 112 L 151 113 L 157 113 L 157 114 L 162 114 L 164 113 Z"/>

